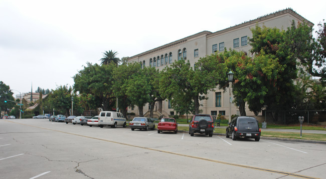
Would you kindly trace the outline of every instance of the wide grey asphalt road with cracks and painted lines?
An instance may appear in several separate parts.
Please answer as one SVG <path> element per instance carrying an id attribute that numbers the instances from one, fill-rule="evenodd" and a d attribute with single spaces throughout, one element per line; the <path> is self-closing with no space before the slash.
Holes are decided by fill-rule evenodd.
<path id="1" fill-rule="evenodd" d="M 326 145 L 0 119 L 0 178 L 326 178 Z"/>

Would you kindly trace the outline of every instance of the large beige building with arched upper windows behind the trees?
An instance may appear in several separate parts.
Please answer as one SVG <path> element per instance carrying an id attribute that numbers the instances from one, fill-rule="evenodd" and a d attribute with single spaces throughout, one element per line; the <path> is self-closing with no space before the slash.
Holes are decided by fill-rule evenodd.
<path id="1" fill-rule="evenodd" d="M 195 62 L 201 57 L 210 55 L 216 51 L 223 51 L 224 48 L 245 51 L 249 54 L 251 46 L 248 44 L 248 37 L 252 36 L 250 28 L 258 24 L 259 26 L 265 25 L 267 27 L 287 29 L 287 27 L 291 25 L 292 20 L 294 20 L 296 24 L 298 22 L 305 22 L 313 26 L 313 23 L 288 8 L 216 32 L 202 31 L 131 56 L 128 61 L 139 62 L 142 66 L 153 66 L 162 70 L 165 66 L 182 58 L 189 60 L 191 65 L 194 66 Z M 209 92 L 207 96 L 207 100 L 200 101 L 200 103 L 203 104 L 201 107 L 203 113 L 212 115 L 221 113 L 228 118 L 230 114 L 229 89 L 223 92 L 216 88 L 216 91 Z M 231 115 L 240 114 L 238 106 L 232 104 L 231 108 Z M 156 111 L 156 109 L 158 115 L 168 116 L 174 114 L 168 99 L 156 102 L 154 110 Z M 145 115 L 148 113 L 148 110 L 149 107 L 146 105 L 143 111 Z M 137 115 L 138 109 L 136 107 L 128 108 L 128 112 L 134 112 Z M 254 115 L 253 112 L 248 110 L 248 107 L 246 107 L 246 112 L 247 115 Z"/>

